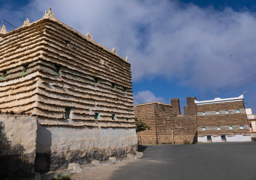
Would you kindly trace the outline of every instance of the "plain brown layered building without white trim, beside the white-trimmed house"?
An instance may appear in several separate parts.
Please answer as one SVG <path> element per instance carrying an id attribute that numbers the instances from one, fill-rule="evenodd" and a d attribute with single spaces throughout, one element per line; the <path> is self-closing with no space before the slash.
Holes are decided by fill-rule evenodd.
<path id="1" fill-rule="evenodd" d="M 137 133 L 142 143 L 182 144 L 184 140 L 197 140 L 196 116 L 180 115 L 177 98 L 171 99 L 171 103 L 151 102 L 136 105 L 135 116 L 151 127 L 150 130 Z"/>

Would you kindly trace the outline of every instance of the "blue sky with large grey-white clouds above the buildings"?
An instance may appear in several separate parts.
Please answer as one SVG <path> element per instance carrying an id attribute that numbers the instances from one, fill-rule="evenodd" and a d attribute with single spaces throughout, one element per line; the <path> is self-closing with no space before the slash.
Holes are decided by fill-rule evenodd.
<path id="1" fill-rule="evenodd" d="M 0 19 L 21 27 L 51 7 L 58 20 L 132 65 L 134 101 L 170 103 L 256 74 L 254 1 L 0 0 Z M 7 25 L 6 23 L 4 23 Z M 7 25 L 7 30 L 14 28 Z M 256 83 L 210 97 L 237 97 L 256 113 Z M 203 100 L 203 99 L 202 99 Z"/>

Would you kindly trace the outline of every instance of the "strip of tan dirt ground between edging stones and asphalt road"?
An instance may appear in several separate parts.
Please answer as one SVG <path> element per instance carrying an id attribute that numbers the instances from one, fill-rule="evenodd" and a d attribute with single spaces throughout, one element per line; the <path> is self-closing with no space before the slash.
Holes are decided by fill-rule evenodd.
<path id="1" fill-rule="evenodd" d="M 109 180 L 111 179 L 111 176 L 113 175 L 114 171 L 117 170 L 119 167 L 126 165 L 128 162 L 136 162 L 140 159 L 134 159 L 125 161 L 118 164 L 111 164 L 111 165 L 105 165 L 102 167 L 98 167 L 95 169 L 87 170 L 85 172 L 76 173 L 73 175 L 70 175 L 70 179 L 72 180 Z"/>

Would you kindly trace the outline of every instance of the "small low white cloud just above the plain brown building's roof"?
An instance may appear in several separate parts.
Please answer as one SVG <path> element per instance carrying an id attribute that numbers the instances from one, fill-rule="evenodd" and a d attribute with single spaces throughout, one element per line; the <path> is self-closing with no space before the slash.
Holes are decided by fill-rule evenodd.
<path id="1" fill-rule="evenodd" d="M 134 99 L 134 105 L 154 101 L 165 103 L 165 99 L 163 97 L 156 97 L 155 94 L 149 90 L 139 91 L 137 94 L 134 94 Z"/>

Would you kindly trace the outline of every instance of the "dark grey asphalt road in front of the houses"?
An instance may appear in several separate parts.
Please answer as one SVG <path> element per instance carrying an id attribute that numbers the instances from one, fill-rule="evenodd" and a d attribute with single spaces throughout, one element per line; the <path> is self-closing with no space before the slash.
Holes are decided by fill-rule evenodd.
<path id="1" fill-rule="evenodd" d="M 256 142 L 149 145 L 136 162 L 114 171 L 120 179 L 256 179 Z"/>

